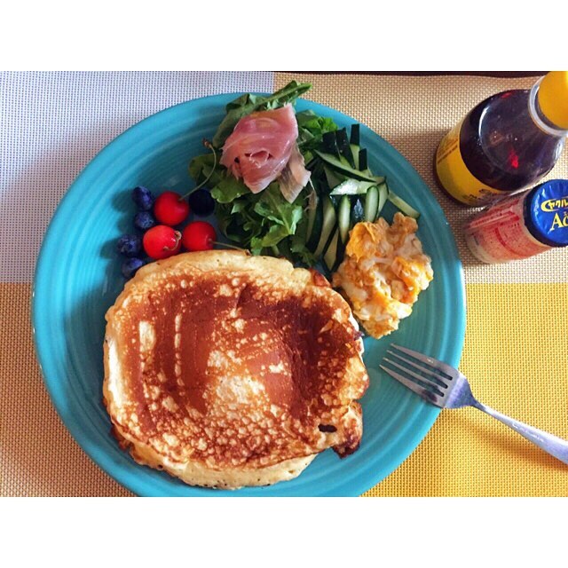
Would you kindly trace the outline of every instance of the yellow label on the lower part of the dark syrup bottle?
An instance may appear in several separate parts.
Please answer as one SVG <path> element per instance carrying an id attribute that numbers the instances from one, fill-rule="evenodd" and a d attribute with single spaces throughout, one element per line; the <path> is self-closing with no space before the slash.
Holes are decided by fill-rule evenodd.
<path id="1" fill-rule="evenodd" d="M 495 189 L 479 181 L 463 162 L 460 150 L 461 122 L 440 142 L 436 153 L 436 172 L 446 192 L 467 205 L 480 206 L 511 192 Z"/>

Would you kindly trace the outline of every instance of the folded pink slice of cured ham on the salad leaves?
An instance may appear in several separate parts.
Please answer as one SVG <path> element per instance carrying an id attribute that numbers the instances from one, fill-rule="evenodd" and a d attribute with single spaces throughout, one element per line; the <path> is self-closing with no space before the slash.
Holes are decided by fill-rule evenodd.
<path id="1" fill-rule="evenodd" d="M 298 124 L 291 105 L 248 114 L 226 139 L 221 163 L 252 193 L 259 193 L 286 168 L 296 138 Z"/>

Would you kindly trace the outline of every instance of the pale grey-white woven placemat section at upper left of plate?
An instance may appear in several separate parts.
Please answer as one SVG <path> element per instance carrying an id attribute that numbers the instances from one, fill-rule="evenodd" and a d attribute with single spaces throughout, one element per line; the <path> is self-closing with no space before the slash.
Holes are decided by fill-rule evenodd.
<path id="1" fill-rule="evenodd" d="M 113 138 L 188 99 L 272 91 L 272 79 L 235 71 L 0 72 L 0 281 L 31 280 L 63 193 Z"/>

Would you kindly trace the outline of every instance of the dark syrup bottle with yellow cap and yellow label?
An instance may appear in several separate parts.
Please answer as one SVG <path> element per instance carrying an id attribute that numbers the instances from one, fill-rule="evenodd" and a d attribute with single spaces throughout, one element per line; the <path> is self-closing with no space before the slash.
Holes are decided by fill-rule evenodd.
<path id="1" fill-rule="evenodd" d="M 477 207 L 533 186 L 552 170 L 568 135 L 568 72 L 532 90 L 479 103 L 438 146 L 436 174 L 455 200 Z"/>

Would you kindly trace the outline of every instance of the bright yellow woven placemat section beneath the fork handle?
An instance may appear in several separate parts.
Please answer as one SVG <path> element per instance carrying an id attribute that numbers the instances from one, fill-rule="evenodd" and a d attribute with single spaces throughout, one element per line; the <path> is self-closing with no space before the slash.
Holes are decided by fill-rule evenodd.
<path id="1" fill-rule="evenodd" d="M 468 284 L 461 371 L 485 404 L 568 438 L 566 284 Z M 565 496 L 566 466 L 473 408 L 442 412 L 367 496 Z"/>

